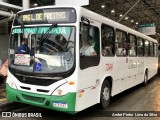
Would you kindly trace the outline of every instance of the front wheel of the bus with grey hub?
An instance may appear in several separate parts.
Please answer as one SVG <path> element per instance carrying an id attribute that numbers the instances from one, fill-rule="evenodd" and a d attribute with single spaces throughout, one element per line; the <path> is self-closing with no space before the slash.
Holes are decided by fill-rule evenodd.
<path id="1" fill-rule="evenodd" d="M 101 88 L 100 106 L 102 109 L 106 109 L 109 105 L 111 97 L 110 84 L 108 80 L 105 80 Z"/>

